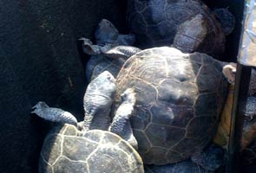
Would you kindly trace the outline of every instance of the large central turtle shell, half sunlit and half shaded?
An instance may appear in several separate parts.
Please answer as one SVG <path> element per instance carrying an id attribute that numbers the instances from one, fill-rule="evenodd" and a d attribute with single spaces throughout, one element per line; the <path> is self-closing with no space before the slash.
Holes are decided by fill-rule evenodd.
<path id="1" fill-rule="evenodd" d="M 117 75 L 115 110 L 121 93 L 135 88 L 131 118 L 144 163 L 176 163 L 213 138 L 227 82 L 220 61 L 176 48 L 149 48 L 125 62 Z"/>

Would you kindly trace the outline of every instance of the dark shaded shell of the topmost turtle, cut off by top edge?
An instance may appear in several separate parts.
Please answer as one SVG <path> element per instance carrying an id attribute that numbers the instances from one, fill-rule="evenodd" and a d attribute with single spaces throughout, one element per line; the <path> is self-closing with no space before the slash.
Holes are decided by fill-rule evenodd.
<path id="1" fill-rule="evenodd" d="M 177 33 L 182 23 L 201 15 L 198 24 L 187 28 L 181 35 Z M 197 22 L 195 22 L 197 23 Z M 211 14 L 205 3 L 200 0 L 129 0 L 128 25 L 135 34 L 138 46 L 153 48 L 156 46 L 170 46 L 177 39 L 194 39 L 198 48 L 194 51 L 219 56 L 225 48 L 225 35 L 220 28 L 220 22 Z M 193 38 L 193 33 L 203 29 L 204 39 Z M 187 35 L 187 39 L 184 39 Z M 183 37 L 183 38 L 182 38 Z M 179 42 L 177 42 L 179 43 Z M 185 42 L 175 48 L 187 49 Z"/>

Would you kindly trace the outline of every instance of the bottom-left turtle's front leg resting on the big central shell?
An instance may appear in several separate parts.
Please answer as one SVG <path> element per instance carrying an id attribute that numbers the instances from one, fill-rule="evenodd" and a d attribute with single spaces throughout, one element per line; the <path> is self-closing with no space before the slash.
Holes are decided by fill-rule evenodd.
<path id="1" fill-rule="evenodd" d="M 137 140 L 133 134 L 133 129 L 130 124 L 129 118 L 132 116 L 135 106 L 135 91 L 128 88 L 121 94 L 122 103 L 115 112 L 115 117 L 109 127 L 109 131 L 118 134 L 121 138 L 125 139 L 131 144 L 135 150 L 138 149 Z"/>

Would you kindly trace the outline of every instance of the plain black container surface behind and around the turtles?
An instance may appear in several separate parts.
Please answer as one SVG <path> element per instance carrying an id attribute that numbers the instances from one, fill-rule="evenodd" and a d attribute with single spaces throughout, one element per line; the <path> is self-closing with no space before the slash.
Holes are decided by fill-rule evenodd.
<path id="1" fill-rule="evenodd" d="M 243 1 L 205 1 L 229 7 L 237 26 L 227 38 L 235 61 Z M 102 18 L 128 31 L 124 0 L 0 0 L 0 172 L 37 172 L 49 123 L 30 115 L 39 100 L 82 119 L 86 88 L 81 36 L 93 38 Z M 78 46 L 77 46 L 78 45 Z"/>

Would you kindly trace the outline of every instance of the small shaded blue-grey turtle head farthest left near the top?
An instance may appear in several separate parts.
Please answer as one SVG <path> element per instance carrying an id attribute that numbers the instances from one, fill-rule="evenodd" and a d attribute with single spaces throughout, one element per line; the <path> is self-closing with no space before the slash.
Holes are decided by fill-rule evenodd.
<path id="1" fill-rule="evenodd" d="M 104 46 L 108 43 L 115 43 L 117 42 L 118 35 L 119 33 L 115 25 L 107 19 L 102 19 L 95 31 L 96 44 Z"/>

